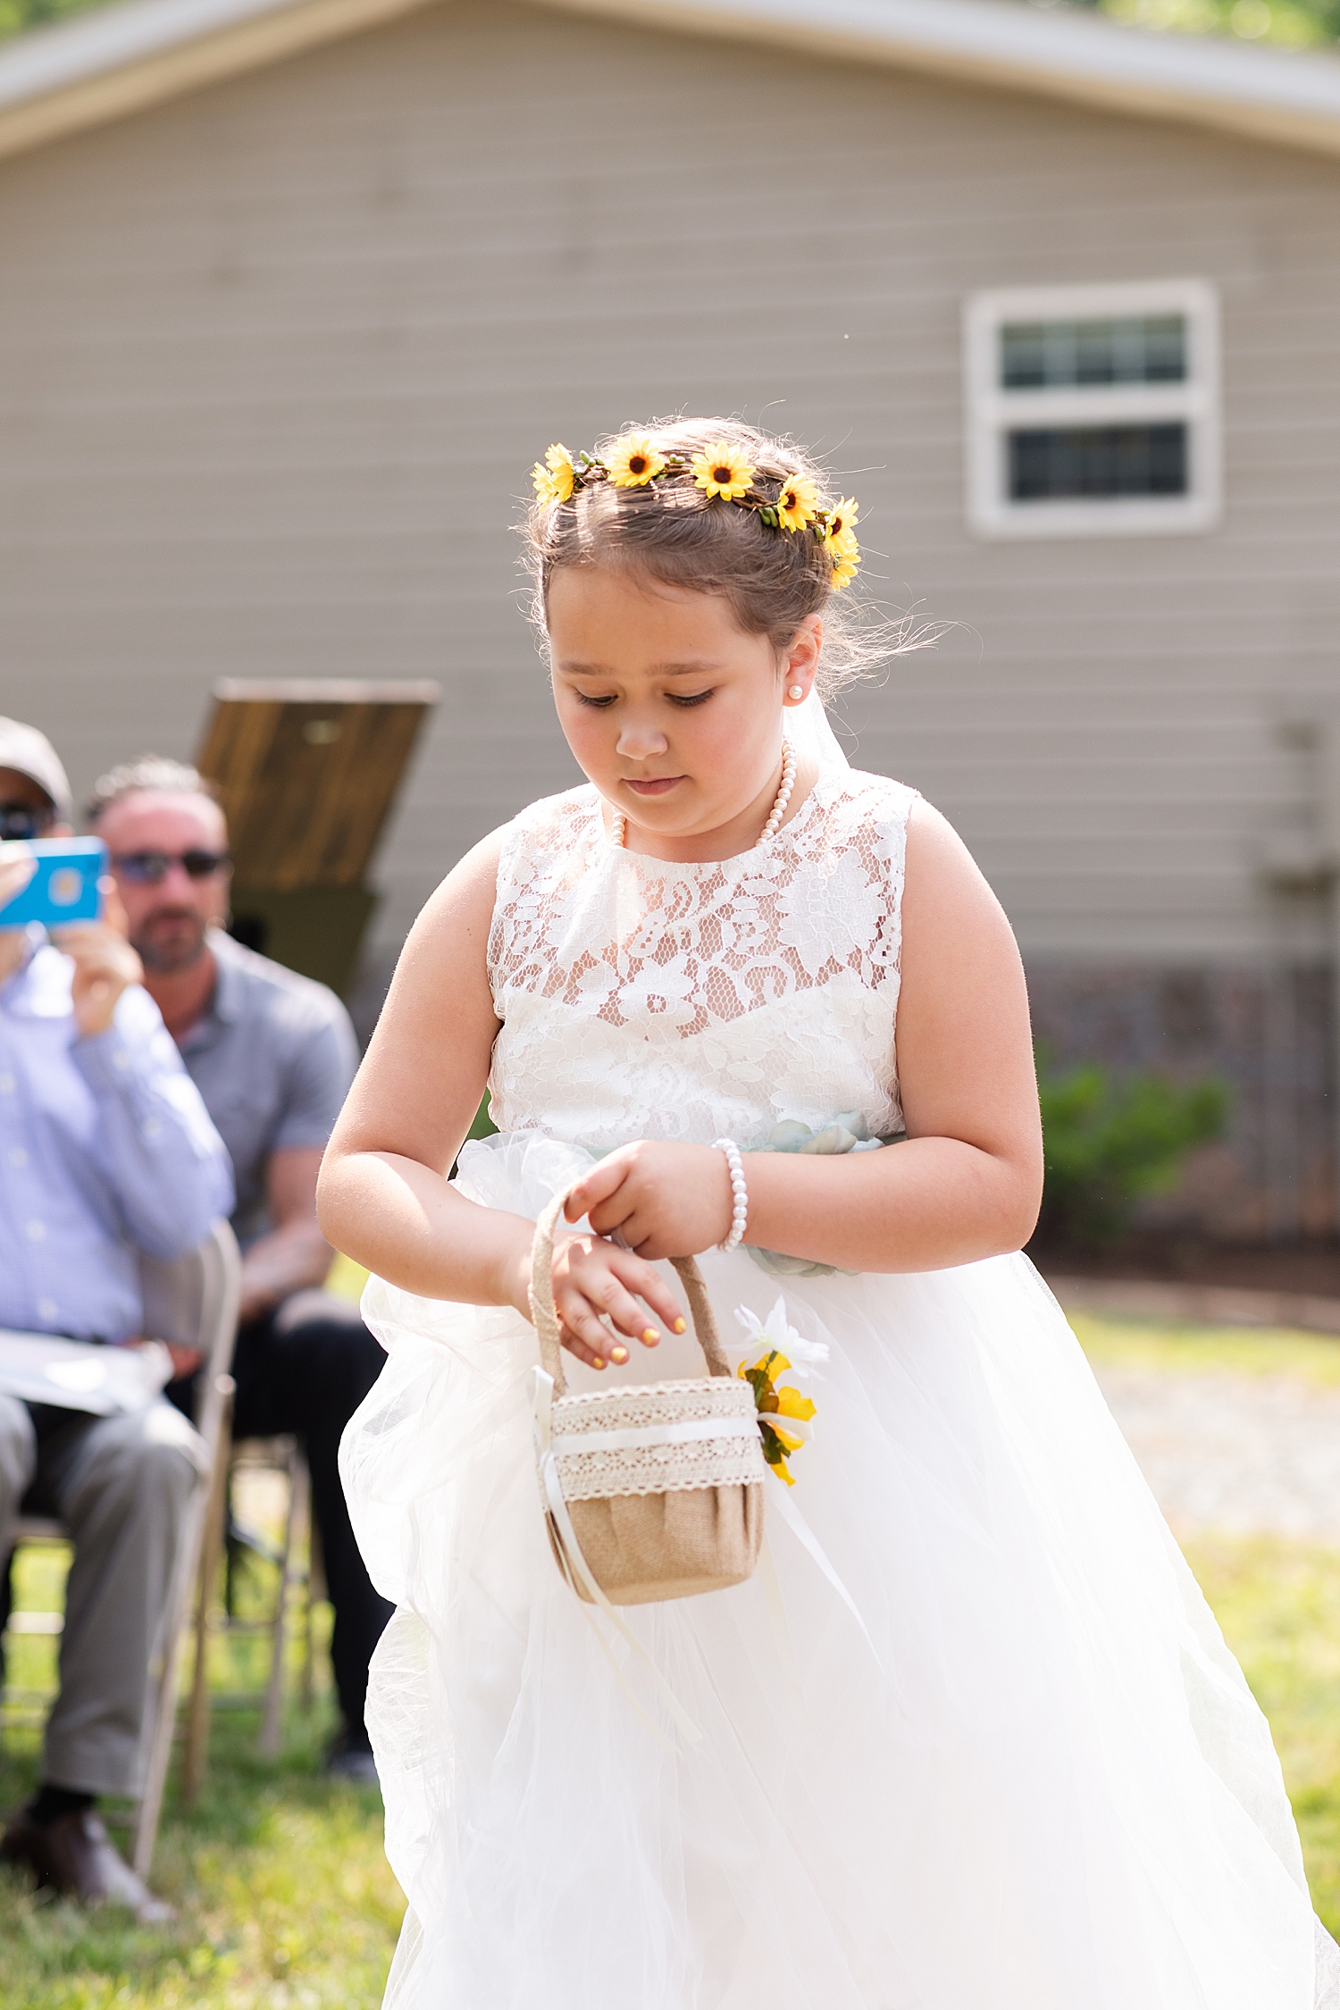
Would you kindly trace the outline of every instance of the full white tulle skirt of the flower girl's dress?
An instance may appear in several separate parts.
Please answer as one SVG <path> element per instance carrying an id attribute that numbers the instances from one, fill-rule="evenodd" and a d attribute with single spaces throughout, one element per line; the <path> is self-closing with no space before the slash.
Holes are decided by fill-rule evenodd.
<path id="1" fill-rule="evenodd" d="M 587 1164 L 512 1134 L 466 1148 L 460 1186 L 534 1218 Z M 743 1250 L 701 1262 L 723 1323 L 769 1311 Z M 611 1636 L 629 1704 L 554 1568 L 532 1329 L 370 1282 L 390 1359 L 342 1469 L 398 1606 L 370 1684 L 408 1895 L 386 2002 L 1330 2000 L 1268 1725 L 1027 1258 L 784 1288 L 830 1347 L 794 1461 L 812 1546 L 769 1475 L 747 1584 L 623 1614 L 691 1747 Z M 703 1373 L 687 1337 L 635 1357 Z"/>

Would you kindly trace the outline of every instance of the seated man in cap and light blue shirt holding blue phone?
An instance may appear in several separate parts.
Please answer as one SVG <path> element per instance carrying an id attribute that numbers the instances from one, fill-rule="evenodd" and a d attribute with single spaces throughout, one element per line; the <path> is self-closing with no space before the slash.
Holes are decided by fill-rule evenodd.
<path id="1" fill-rule="evenodd" d="M 68 804 L 50 742 L 0 720 L 0 836 L 68 836 Z M 0 850 L 0 902 L 28 870 Z M 113 917 L 58 931 L 60 947 L 0 929 L 0 1327 L 119 1345 L 143 1331 L 139 1252 L 197 1248 L 233 1178 Z M 88 1417 L 0 1395 L 0 1568 L 24 1497 L 74 1544 L 42 1787 L 0 1857 L 141 1920 L 171 1907 L 117 1855 L 94 1801 L 143 1791 L 149 1670 L 205 1465 L 163 1399 Z"/>

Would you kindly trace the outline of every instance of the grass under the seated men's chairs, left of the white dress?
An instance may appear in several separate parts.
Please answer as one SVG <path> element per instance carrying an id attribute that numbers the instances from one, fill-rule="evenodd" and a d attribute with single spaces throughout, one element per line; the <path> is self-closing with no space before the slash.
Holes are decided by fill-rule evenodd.
<path id="1" fill-rule="evenodd" d="M 16 1606 L 58 1608 L 64 1568 L 62 1550 L 20 1552 Z M 249 1564 L 239 1610 L 259 1614 L 271 1598 L 273 1572 Z M 329 1608 L 317 1618 L 325 1634 Z M 217 1638 L 211 1686 L 259 1704 L 265 1654 L 263 1636 Z M 327 1676 L 323 1652 L 317 1670 Z M 48 1696 L 54 1672 L 52 1638 L 10 1640 L 12 1690 Z M 38 1721 L 36 1708 L 6 1711 L 4 1807 L 36 1783 Z M 169 1791 L 159 1835 L 153 1883 L 179 1907 L 171 1928 L 88 1914 L 0 1871 L 4 2010 L 376 2010 L 404 1899 L 382 1851 L 376 1789 L 321 1773 L 333 1721 L 321 1680 L 309 1715 L 289 1711 L 283 1755 L 267 1763 L 255 1755 L 259 1708 L 215 1708 L 205 1791 L 191 1813 Z"/>

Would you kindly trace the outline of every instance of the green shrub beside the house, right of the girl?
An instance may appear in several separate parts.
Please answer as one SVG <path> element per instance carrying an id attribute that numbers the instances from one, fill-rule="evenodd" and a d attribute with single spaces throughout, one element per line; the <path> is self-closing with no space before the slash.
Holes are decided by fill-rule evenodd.
<path id="1" fill-rule="evenodd" d="M 1047 1238 L 1105 1242 L 1129 1224 L 1137 1200 L 1165 1194 L 1187 1152 L 1221 1138 L 1223 1081 L 1175 1083 L 1149 1071 L 1113 1075 L 1097 1061 L 1051 1073 L 1039 1053 L 1043 1103 L 1043 1218 Z"/>

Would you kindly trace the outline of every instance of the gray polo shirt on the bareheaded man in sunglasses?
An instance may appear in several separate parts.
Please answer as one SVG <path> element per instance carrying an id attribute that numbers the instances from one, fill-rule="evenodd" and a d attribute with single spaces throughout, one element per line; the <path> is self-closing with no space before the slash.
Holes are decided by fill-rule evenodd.
<path id="1" fill-rule="evenodd" d="M 181 1057 L 237 1180 L 233 1228 L 247 1246 L 269 1228 L 271 1152 L 323 1146 L 358 1067 L 350 1015 L 325 985 L 209 931 L 219 983 Z"/>

